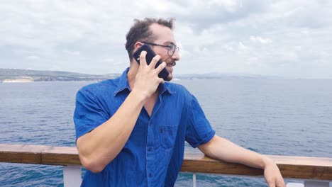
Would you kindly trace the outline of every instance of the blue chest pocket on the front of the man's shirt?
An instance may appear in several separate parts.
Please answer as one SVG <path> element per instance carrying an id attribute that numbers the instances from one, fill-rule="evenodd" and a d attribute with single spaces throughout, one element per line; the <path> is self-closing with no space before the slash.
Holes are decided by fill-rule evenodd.
<path id="1" fill-rule="evenodd" d="M 176 125 L 163 125 L 160 127 L 160 145 L 164 149 L 170 149 L 174 146 L 177 135 Z"/>

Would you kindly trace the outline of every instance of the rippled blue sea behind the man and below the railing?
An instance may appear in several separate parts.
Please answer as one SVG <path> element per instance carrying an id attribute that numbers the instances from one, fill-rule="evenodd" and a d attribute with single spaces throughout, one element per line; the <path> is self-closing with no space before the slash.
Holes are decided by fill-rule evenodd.
<path id="1" fill-rule="evenodd" d="M 332 157 L 332 79 L 186 79 L 216 134 L 260 154 Z M 0 144 L 74 147 L 75 95 L 93 81 L 0 84 Z M 186 145 L 187 151 L 197 149 Z M 301 182 L 285 179 L 288 182 Z M 62 166 L 0 163 L 0 186 L 63 186 Z M 180 173 L 175 186 L 193 186 Z M 197 174 L 197 186 L 267 186 Z"/>

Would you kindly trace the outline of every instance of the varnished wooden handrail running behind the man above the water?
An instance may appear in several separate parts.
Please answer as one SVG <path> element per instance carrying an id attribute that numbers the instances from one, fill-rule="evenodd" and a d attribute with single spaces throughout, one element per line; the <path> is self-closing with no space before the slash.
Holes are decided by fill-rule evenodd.
<path id="1" fill-rule="evenodd" d="M 332 158 L 266 155 L 273 159 L 284 178 L 332 181 Z M 0 162 L 45 165 L 81 165 L 76 147 L 1 145 Z M 193 173 L 262 176 L 262 169 L 221 162 L 201 153 L 185 152 L 181 171 Z"/>

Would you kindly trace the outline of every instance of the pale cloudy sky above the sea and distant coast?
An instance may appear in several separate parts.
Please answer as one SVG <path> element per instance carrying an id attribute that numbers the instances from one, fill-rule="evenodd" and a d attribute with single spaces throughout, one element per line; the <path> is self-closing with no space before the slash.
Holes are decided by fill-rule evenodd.
<path id="1" fill-rule="evenodd" d="M 0 68 L 122 73 L 135 18 L 175 18 L 174 74 L 332 79 L 332 1 L 1 1 Z"/>

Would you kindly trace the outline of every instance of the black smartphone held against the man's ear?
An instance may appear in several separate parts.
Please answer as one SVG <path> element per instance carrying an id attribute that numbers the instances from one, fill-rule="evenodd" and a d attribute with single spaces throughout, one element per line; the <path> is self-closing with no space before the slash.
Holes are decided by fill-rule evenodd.
<path id="1" fill-rule="evenodd" d="M 151 47 L 147 44 L 144 44 L 142 45 L 142 47 L 140 47 L 137 51 L 134 52 L 133 54 L 133 58 L 136 60 L 136 62 L 138 64 L 140 64 L 140 52 L 142 51 L 146 51 L 146 56 L 145 56 L 145 59 L 146 59 L 146 63 L 147 64 L 150 64 L 151 61 L 153 60 L 153 57 L 155 57 L 155 52 L 153 52 L 153 50 L 151 49 Z M 160 64 L 162 63 L 161 60 L 159 60 L 157 62 L 157 64 L 155 64 L 155 68 L 157 68 Z M 168 74 L 170 74 L 166 67 L 164 69 L 162 69 L 162 71 L 158 74 L 158 77 L 166 80 L 166 78 L 168 77 Z"/>

